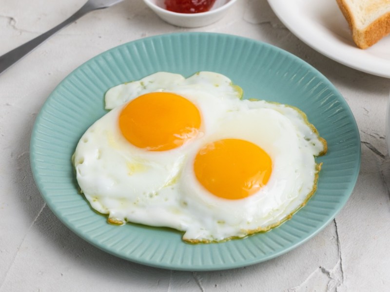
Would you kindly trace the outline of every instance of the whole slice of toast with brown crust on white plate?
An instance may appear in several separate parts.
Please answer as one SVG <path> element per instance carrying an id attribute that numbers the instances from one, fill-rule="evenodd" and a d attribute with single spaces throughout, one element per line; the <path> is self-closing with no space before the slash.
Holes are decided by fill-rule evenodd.
<path id="1" fill-rule="evenodd" d="M 390 34 L 390 0 L 336 1 L 359 48 L 366 49 Z"/>

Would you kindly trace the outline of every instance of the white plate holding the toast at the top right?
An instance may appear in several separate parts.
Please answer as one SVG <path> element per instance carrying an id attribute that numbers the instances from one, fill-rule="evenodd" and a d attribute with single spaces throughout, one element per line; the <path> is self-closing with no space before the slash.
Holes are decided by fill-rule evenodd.
<path id="1" fill-rule="evenodd" d="M 335 0 L 268 0 L 292 33 L 323 55 L 359 71 L 390 78 L 390 36 L 362 50 Z"/>

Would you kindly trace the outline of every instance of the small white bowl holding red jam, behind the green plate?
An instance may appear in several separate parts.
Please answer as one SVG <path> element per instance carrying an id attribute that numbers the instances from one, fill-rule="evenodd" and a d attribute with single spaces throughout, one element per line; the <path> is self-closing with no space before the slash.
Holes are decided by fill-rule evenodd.
<path id="1" fill-rule="evenodd" d="M 210 10 L 198 13 L 169 11 L 166 9 L 165 0 L 143 1 L 157 14 L 157 16 L 166 22 L 180 27 L 194 28 L 210 25 L 223 18 L 237 0 L 215 0 L 215 3 Z"/>

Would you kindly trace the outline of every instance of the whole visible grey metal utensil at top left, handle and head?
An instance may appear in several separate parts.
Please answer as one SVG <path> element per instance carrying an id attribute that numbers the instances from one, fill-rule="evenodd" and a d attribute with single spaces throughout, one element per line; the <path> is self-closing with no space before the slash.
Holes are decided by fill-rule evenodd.
<path id="1" fill-rule="evenodd" d="M 22 44 L 16 49 L 13 49 L 12 51 L 0 56 L 0 74 L 4 72 L 8 67 L 19 61 L 23 56 L 27 55 L 36 47 L 38 47 L 39 44 L 41 44 L 43 41 L 57 33 L 61 28 L 64 28 L 78 18 L 86 15 L 88 12 L 97 9 L 107 8 L 122 1 L 123 0 L 88 0 L 75 14 L 73 14 L 65 21 L 61 22 L 56 27 L 53 27 L 51 30 L 45 32 L 44 34 L 33 38 L 32 40 L 26 42 L 25 44 Z"/>

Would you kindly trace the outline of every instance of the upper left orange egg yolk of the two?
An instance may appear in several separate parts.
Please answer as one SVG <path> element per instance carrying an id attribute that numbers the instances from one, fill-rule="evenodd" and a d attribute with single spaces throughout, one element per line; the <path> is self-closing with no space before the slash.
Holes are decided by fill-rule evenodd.
<path id="1" fill-rule="evenodd" d="M 188 99 L 170 92 L 151 92 L 132 100 L 119 115 L 119 128 L 133 145 L 165 151 L 194 139 L 201 117 Z"/>

